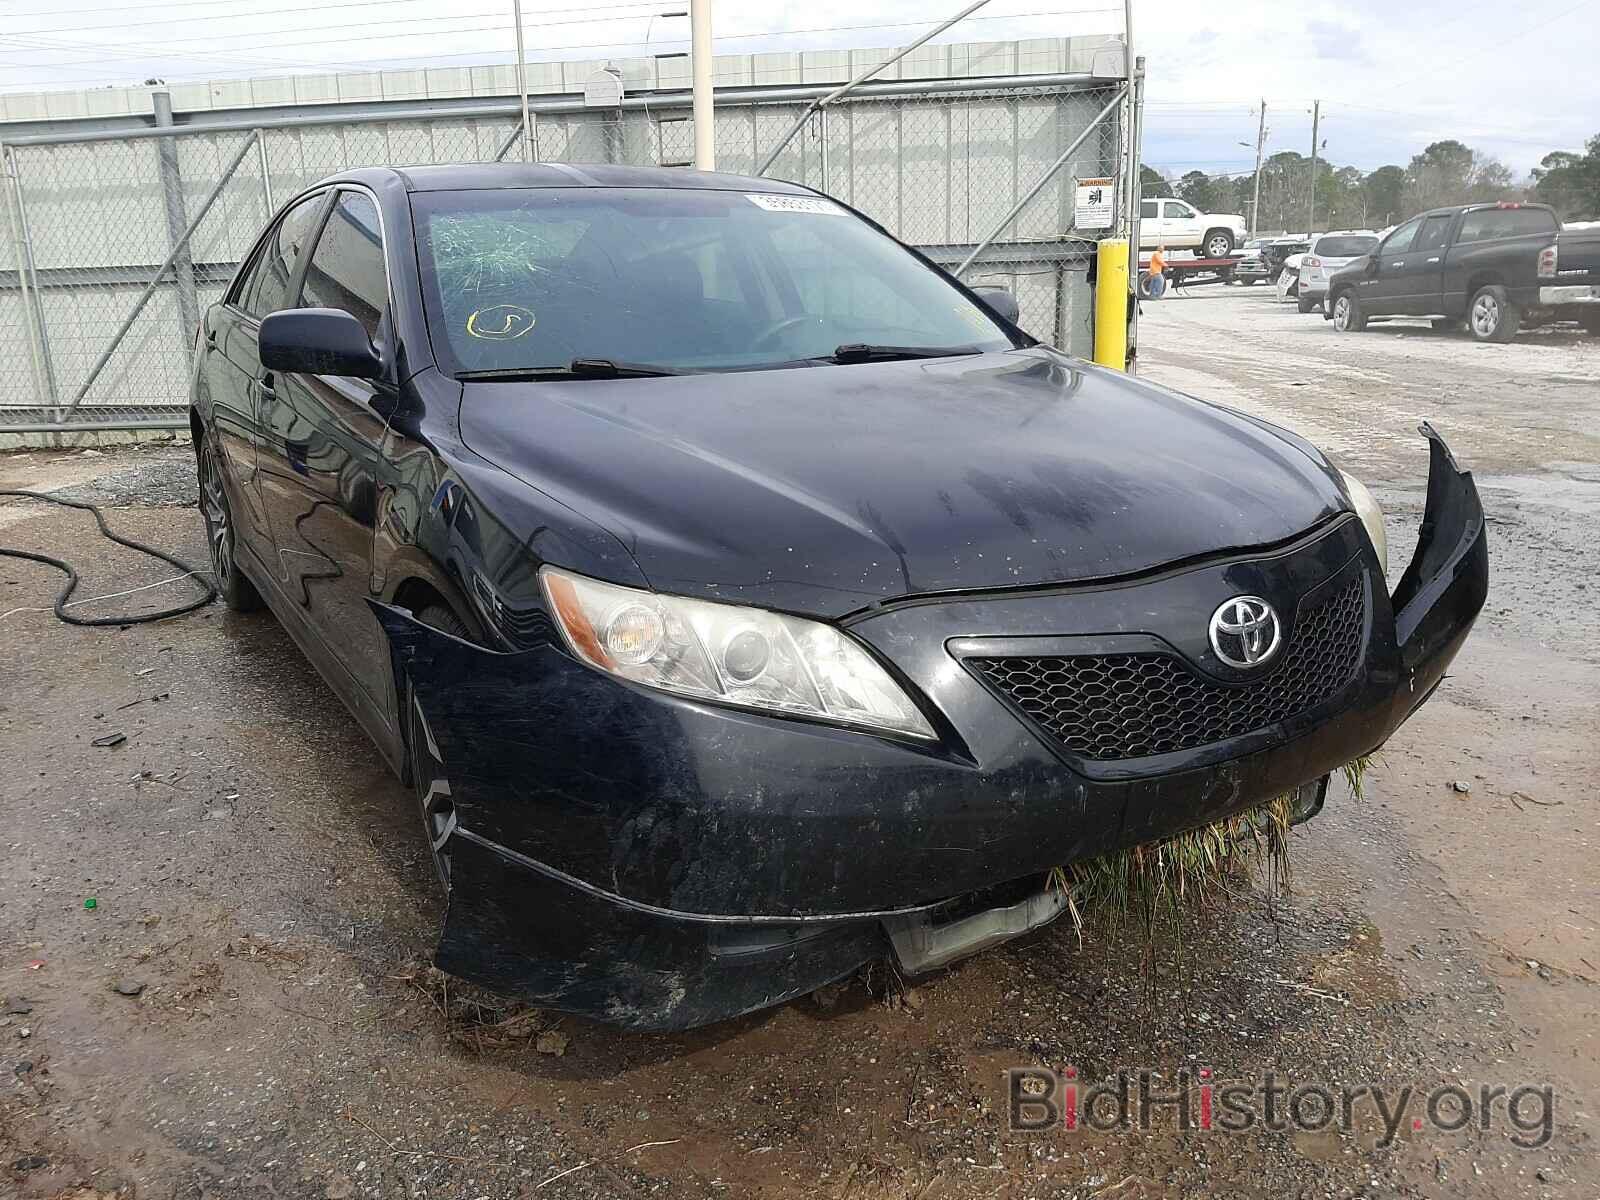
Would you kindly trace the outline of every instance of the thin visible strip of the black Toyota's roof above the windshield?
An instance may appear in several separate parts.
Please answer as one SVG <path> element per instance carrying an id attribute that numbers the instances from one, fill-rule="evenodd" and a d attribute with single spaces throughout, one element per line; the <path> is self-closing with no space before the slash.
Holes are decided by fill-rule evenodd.
<path id="1" fill-rule="evenodd" d="M 450 163 L 443 166 L 368 166 L 323 179 L 358 182 L 400 179 L 408 192 L 466 192 L 528 187 L 674 187 L 702 192 L 778 192 L 813 195 L 811 189 L 685 166 L 621 166 L 616 163 Z"/>

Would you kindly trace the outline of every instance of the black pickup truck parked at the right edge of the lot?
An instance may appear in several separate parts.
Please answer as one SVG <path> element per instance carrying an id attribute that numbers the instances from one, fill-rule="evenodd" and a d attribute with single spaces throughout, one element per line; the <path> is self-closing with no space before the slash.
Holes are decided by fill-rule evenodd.
<path id="1" fill-rule="evenodd" d="M 1411 218 L 1328 282 L 1341 333 L 1382 317 L 1432 317 L 1483 342 L 1525 323 L 1576 320 L 1600 334 L 1600 229 L 1562 230 L 1546 205 L 1458 205 Z"/>

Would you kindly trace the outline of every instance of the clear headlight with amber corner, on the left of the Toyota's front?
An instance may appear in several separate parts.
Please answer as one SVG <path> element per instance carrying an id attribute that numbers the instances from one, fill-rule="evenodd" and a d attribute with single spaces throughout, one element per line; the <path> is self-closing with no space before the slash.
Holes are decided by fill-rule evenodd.
<path id="1" fill-rule="evenodd" d="M 917 706 L 832 626 L 539 571 L 566 645 L 619 678 L 842 725 L 933 738 Z"/>

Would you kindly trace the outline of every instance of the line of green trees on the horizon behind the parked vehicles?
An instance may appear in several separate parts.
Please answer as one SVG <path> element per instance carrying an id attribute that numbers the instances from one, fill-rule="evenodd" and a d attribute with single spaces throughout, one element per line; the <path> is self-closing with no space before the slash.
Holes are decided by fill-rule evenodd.
<path id="1" fill-rule="evenodd" d="M 1202 213 L 1243 213 L 1250 218 L 1254 173 L 1208 176 L 1189 171 L 1168 178 L 1142 170 L 1144 195 L 1176 195 Z M 1259 230 L 1306 230 L 1310 213 L 1310 158 L 1280 150 L 1261 162 Z M 1600 219 L 1600 134 L 1582 154 L 1555 150 L 1544 155 L 1533 174 L 1517 181 L 1506 163 L 1490 154 L 1445 139 L 1414 155 L 1406 166 L 1374 171 L 1334 166 L 1317 160 L 1317 227 L 1382 229 L 1427 208 L 1486 200 L 1536 200 L 1550 205 L 1563 221 Z"/>

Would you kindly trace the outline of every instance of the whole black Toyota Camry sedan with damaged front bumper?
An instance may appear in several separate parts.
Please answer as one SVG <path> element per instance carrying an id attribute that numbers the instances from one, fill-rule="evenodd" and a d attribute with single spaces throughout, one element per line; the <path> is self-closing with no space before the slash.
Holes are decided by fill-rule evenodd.
<path id="1" fill-rule="evenodd" d="M 648 1029 L 1062 909 L 1053 867 L 1294 794 L 1486 589 L 1299 437 L 1040 346 L 827 197 L 363 170 L 206 312 L 214 570 L 410 782 L 438 965 Z"/>

